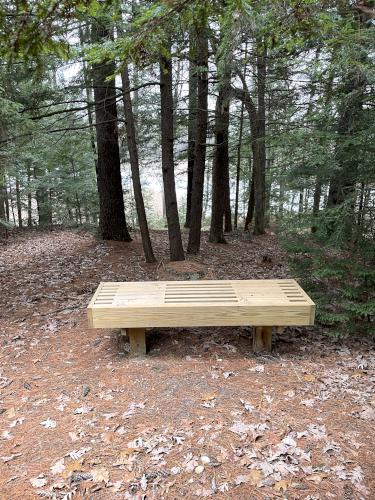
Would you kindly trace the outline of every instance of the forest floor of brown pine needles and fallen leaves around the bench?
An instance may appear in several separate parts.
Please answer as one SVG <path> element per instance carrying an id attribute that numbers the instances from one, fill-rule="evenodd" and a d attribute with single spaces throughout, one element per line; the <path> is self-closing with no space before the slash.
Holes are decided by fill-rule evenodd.
<path id="1" fill-rule="evenodd" d="M 139 237 L 24 232 L 0 246 L 0 499 L 375 498 L 370 339 L 317 327 L 153 329 L 131 358 L 85 308 L 100 281 L 287 278 L 274 235 L 145 264 Z"/>

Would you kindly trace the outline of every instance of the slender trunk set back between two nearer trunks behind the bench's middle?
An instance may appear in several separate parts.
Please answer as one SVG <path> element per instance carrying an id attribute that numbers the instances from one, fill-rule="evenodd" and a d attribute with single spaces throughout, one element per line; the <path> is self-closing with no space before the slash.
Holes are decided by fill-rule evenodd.
<path id="1" fill-rule="evenodd" d="M 191 216 L 191 193 L 193 189 L 193 171 L 194 171 L 194 151 L 196 137 L 196 115 L 197 115 L 197 70 L 193 58 L 194 47 L 192 44 L 192 35 L 190 35 L 189 46 L 189 118 L 188 118 L 188 170 L 187 170 L 187 192 L 186 192 L 186 219 L 185 227 L 190 227 Z"/>

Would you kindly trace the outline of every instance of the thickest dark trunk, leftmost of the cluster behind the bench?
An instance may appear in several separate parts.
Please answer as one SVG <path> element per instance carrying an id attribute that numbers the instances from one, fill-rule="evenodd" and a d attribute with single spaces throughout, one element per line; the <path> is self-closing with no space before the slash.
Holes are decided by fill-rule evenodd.
<path id="1" fill-rule="evenodd" d="M 111 35 L 106 20 L 100 18 L 93 21 L 93 42 L 109 40 Z M 94 64 L 92 68 L 98 152 L 99 230 L 103 240 L 131 241 L 121 183 L 115 80 L 107 80 L 115 73 L 115 69 L 115 63 L 108 61 Z"/>

